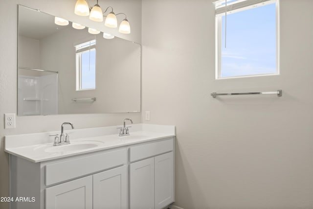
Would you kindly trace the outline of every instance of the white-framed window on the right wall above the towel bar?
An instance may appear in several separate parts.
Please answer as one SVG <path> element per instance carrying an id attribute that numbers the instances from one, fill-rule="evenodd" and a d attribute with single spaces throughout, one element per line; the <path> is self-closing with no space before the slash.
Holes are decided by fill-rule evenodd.
<path id="1" fill-rule="evenodd" d="M 279 73 L 275 2 L 215 1 L 216 79 Z"/>

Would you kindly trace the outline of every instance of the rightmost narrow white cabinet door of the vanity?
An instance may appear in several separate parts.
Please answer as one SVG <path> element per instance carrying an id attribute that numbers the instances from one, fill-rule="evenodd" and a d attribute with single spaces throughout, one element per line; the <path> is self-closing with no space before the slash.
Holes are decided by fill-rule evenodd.
<path id="1" fill-rule="evenodd" d="M 155 209 L 162 209 L 174 201 L 173 152 L 155 157 Z"/>

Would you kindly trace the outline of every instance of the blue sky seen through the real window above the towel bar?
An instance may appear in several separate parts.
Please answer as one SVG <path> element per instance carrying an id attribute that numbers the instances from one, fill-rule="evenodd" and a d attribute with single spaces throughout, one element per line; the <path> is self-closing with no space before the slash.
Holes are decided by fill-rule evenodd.
<path id="1" fill-rule="evenodd" d="M 275 3 L 222 17 L 221 77 L 276 73 Z"/>

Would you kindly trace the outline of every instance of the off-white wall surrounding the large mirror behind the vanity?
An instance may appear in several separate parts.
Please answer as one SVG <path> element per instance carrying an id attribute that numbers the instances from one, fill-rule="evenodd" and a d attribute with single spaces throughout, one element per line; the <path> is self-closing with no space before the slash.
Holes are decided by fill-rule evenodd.
<path id="1" fill-rule="evenodd" d="M 75 128 L 119 125 L 126 117 L 132 118 L 135 123 L 140 122 L 139 113 L 21 116 L 17 117 L 16 129 L 3 129 L 3 114 L 17 112 L 17 3 L 41 9 L 70 21 L 84 22 L 90 27 L 101 27 L 99 24 L 91 23 L 86 17 L 76 16 L 73 13 L 75 2 L 76 0 L 0 0 L 0 197 L 9 195 L 8 155 L 3 151 L 5 135 L 59 130 L 65 121 L 73 122 Z M 113 6 L 114 12 L 125 12 L 131 23 L 132 33 L 123 37 L 140 43 L 141 0 L 100 0 L 99 3 Z M 110 31 L 114 35 L 118 34 L 117 29 Z M 0 202 L 0 209 L 7 208 L 8 204 Z"/>

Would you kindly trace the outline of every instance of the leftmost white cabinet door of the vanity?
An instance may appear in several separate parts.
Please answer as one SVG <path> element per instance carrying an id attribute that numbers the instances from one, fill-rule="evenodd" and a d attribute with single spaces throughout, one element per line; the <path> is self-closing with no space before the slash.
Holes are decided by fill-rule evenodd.
<path id="1" fill-rule="evenodd" d="M 45 209 L 92 209 L 92 176 L 46 188 Z"/>

